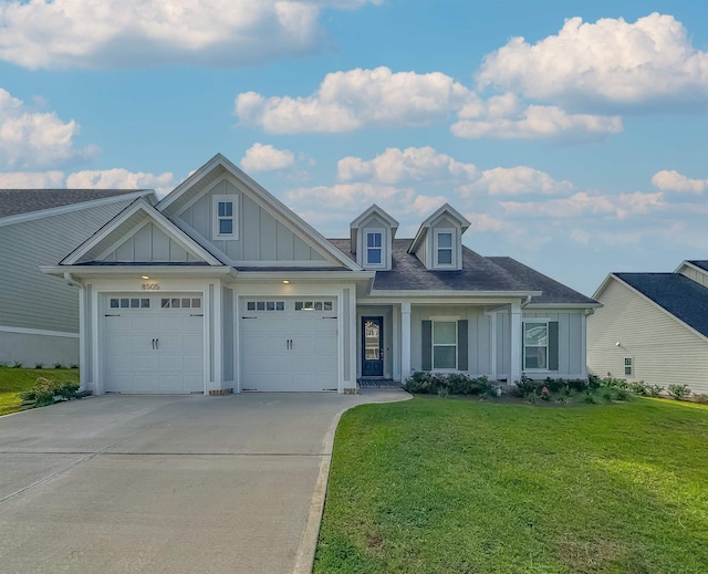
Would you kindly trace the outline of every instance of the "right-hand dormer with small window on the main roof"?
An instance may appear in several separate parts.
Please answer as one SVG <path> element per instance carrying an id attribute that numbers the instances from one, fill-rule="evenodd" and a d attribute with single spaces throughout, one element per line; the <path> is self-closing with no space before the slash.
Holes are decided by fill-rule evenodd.
<path id="1" fill-rule="evenodd" d="M 434 271 L 462 269 L 462 233 L 470 222 L 449 203 L 431 213 L 418 229 L 408 253 Z"/>

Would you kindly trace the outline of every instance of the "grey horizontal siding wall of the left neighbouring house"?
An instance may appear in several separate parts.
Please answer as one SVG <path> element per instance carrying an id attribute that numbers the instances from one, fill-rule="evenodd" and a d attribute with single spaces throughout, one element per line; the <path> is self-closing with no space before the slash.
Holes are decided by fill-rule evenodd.
<path id="1" fill-rule="evenodd" d="M 0 227 L 0 326 L 79 333 L 79 290 L 40 265 L 58 264 L 131 202 Z"/>

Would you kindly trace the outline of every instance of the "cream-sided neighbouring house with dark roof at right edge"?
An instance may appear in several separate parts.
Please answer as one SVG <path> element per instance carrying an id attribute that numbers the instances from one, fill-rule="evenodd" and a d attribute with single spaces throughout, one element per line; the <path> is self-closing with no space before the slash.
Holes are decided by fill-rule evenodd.
<path id="1" fill-rule="evenodd" d="M 594 298 L 587 366 L 601 376 L 708 393 L 708 261 L 673 273 L 611 273 Z"/>

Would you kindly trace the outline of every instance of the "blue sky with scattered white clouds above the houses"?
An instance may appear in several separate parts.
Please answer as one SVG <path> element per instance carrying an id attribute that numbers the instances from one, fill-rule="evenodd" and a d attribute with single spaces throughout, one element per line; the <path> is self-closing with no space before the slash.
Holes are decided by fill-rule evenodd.
<path id="1" fill-rule="evenodd" d="M 592 294 L 708 259 L 708 3 L 0 0 L 0 187 L 222 153 L 327 237 L 442 202 Z"/>

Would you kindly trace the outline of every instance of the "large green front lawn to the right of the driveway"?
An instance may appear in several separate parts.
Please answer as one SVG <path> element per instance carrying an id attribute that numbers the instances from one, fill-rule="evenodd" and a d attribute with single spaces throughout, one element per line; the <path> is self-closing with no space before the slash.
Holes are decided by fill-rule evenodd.
<path id="1" fill-rule="evenodd" d="M 708 408 L 415 398 L 344 415 L 315 573 L 708 572 Z"/>

